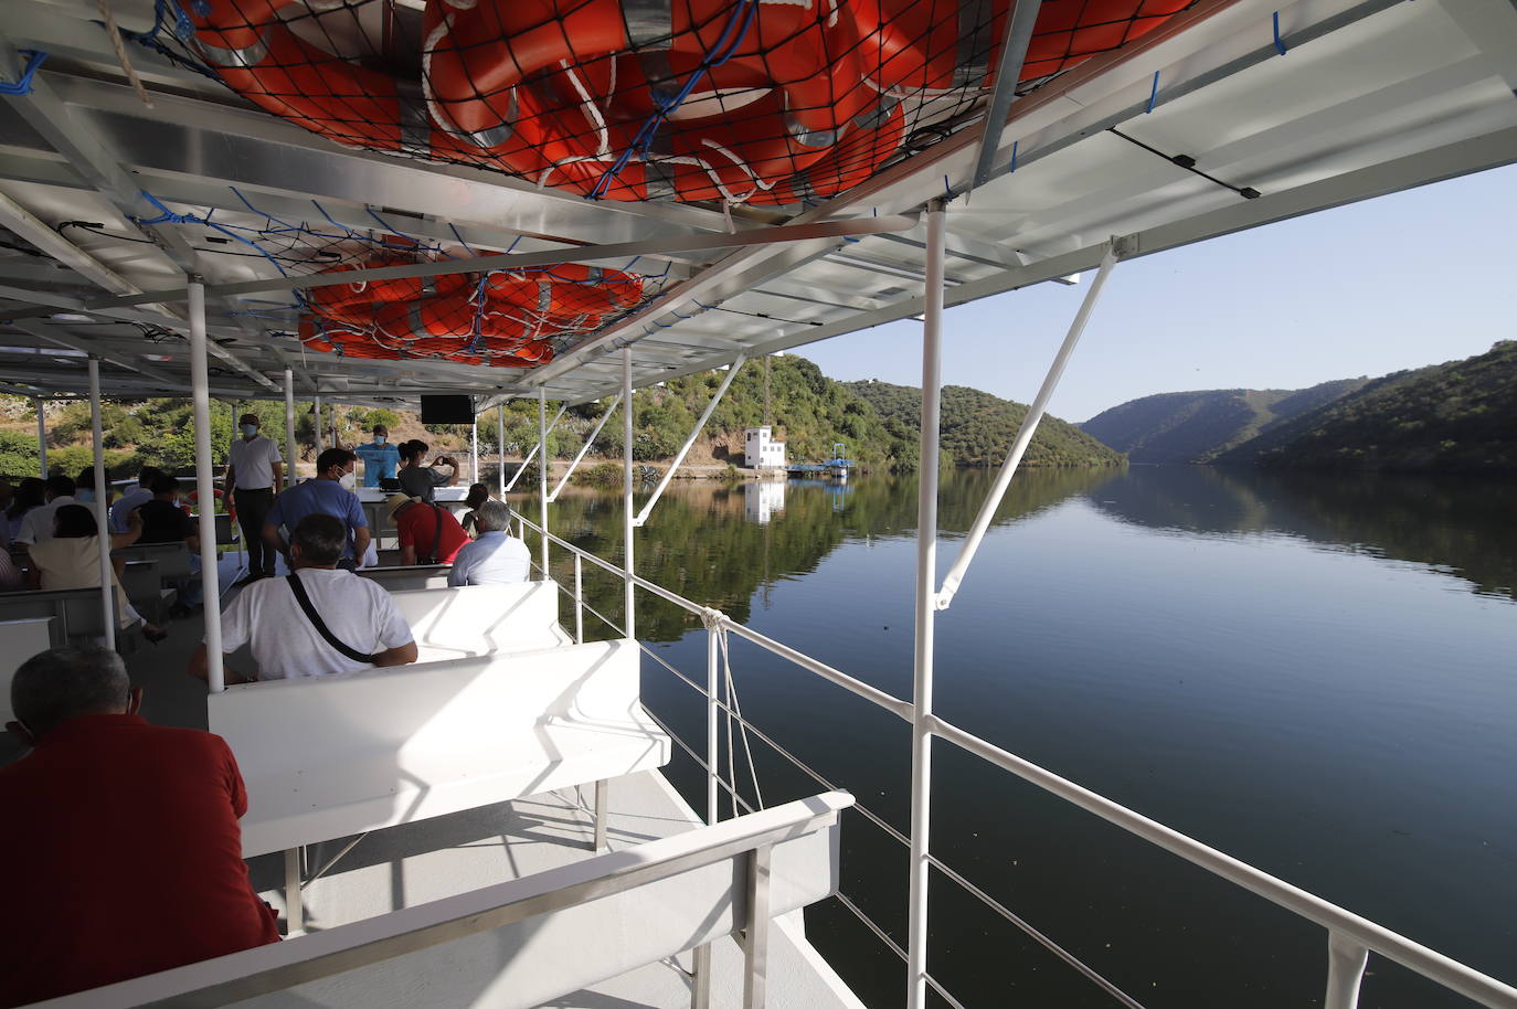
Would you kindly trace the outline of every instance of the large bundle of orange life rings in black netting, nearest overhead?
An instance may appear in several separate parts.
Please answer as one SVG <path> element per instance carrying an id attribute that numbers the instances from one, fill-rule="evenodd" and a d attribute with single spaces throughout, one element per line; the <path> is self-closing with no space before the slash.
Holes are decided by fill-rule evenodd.
<path id="1" fill-rule="evenodd" d="M 1192 2 L 1044 0 L 1019 80 L 1118 49 Z M 177 3 L 194 49 L 231 88 L 337 143 L 587 197 L 766 205 L 842 193 L 933 117 L 975 108 L 995 85 L 1012 9 L 1012 0 L 426 0 L 419 38 L 382 52 L 376 38 L 390 32 L 375 26 L 393 14 L 385 0 Z M 417 53 L 417 80 L 376 67 Z"/>

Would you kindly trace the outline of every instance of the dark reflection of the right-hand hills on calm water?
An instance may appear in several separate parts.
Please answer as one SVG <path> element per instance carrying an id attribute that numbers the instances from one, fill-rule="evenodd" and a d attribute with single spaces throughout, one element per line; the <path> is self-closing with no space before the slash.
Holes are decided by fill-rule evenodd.
<path id="1" fill-rule="evenodd" d="M 1277 534 L 1517 593 L 1517 486 L 1458 476 L 1135 466 L 1086 492 L 1113 519 L 1185 536 Z"/>

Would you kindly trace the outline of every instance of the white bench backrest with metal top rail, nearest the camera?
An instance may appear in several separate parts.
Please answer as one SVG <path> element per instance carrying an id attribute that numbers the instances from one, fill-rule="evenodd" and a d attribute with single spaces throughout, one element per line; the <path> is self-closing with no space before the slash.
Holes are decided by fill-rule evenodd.
<path id="1" fill-rule="evenodd" d="M 745 970 L 762 979 L 772 918 L 837 892 L 851 804 L 824 792 L 49 1004 L 528 1009 L 740 930 Z"/>

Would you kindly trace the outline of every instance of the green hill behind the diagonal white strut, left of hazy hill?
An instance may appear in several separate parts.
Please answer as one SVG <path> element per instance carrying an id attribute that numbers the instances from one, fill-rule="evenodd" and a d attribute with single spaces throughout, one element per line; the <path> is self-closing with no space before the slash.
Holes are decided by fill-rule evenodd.
<path id="1" fill-rule="evenodd" d="M 845 382 L 884 420 L 895 438 L 897 457 L 915 454 L 922 429 L 922 390 L 880 381 Z M 998 466 L 1027 416 L 1027 405 L 978 388 L 944 385 L 942 451 L 959 466 Z M 1077 426 L 1044 416 L 1022 461 L 1029 466 L 1120 466 L 1123 457 Z"/>

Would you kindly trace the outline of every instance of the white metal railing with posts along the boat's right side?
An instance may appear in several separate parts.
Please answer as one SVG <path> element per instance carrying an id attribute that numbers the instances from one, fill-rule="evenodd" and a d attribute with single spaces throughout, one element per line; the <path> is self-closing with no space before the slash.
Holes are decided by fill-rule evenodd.
<path id="1" fill-rule="evenodd" d="M 560 586 L 560 589 L 573 601 L 575 605 L 576 640 L 583 639 L 586 610 L 589 610 L 596 619 L 610 627 L 614 633 L 628 636 L 625 628 L 617 627 L 614 621 L 607 618 L 604 613 L 598 611 L 584 599 L 583 561 L 586 560 L 604 569 L 610 575 L 614 575 L 619 581 L 622 580 L 631 581 L 633 586 L 643 589 L 645 592 L 649 592 L 658 596 L 660 599 L 664 599 L 666 602 L 672 602 L 674 605 L 681 607 L 699 616 L 705 624 L 708 636 L 705 686 L 698 684 L 690 677 L 675 669 L 661 655 L 654 652 L 646 645 L 642 645 L 639 642 L 639 646 L 642 648 L 643 654 L 652 659 L 658 666 L 664 668 L 666 671 L 674 674 L 677 680 L 680 680 L 681 683 L 687 684 L 689 687 L 695 689 L 702 696 L 705 696 L 708 715 L 707 715 L 707 747 L 705 747 L 707 753 L 704 757 L 698 754 L 689 743 L 680 739 L 680 736 L 674 733 L 669 728 L 669 725 L 666 725 L 661 719 L 655 716 L 654 721 L 657 721 L 660 728 L 669 733 L 669 737 L 674 739 L 675 743 L 681 750 L 684 750 L 686 754 L 689 754 L 690 759 L 693 759 L 705 771 L 708 822 L 716 822 L 718 789 L 727 791 L 734 806 L 742 806 L 749 812 L 754 809 L 752 804 L 749 804 L 737 792 L 737 783 L 736 783 L 737 769 L 731 763 L 731 760 L 728 760 L 728 772 L 733 780 L 724 780 L 719 774 L 719 753 L 718 753 L 718 733 L 716 733 L 716 719 L 719 716 L 730 719 L 730 725 L 737 725 L 745 734 L 751 733 L 754 737 L 757 737 L 765 745 L 771 747 L 783 759 L 786 759 L 796 769 L 804 772 L 807 777 L 815 780 L 822 787 L 827 787 L 830 791 L 836 791 L 839 787 L 837 784 L 828 781 L 825 777 L 822 777 L 815 769 L 807 766 L 795 754 L 784 750 L 778 742 L 765 734 L 758 727 L 748 722 L 742 716 L 742 712 L 731 703 L 730 696 L 724 699 L 718 695 L 719 677 L 716 668 L 718 663 L 716 643 L 719 634 L 727 634 L 727 633 L 736 634 L 763 648 L 765 651 L 778 655 L 780 659 L 784 659 L 799 666 L 801 669 L 806 669 L 848 690 L 850 693 L 854 693 L 869 701 L 871 704 L 875 704 L 877 707 L 881 707 L 897 715 L 898 718 L 907 722 L 913 721 L 913 710 L 909 701 L 903 701 L 897 696 L 892 696 L 890 693 L 872 687 L 868 683 L 863 683 L 862 680 L 856 680 L 854 677 L 850 677 L 848 674 L 840 672 L 833 666 L 828 666 L 827 663 L 818 662 L 816 659 L 812 659 L 810 655 L 799 652 L 790 648 L 789 645 L 783 645 L 781 642 L 777 642 L 765 634 L 760 634 L 758 631 L 743 627 L 742 624 L 737 624 L 736 621 L 728 618 L 725 613 L 721 613 L 719 610 L 713 610 L 698 602 L 692 602 L 690 599 L 686 599 L 684 596 L 669 592 L 667 589 L 657 586 L 648 581 L 646 578 L 640 578 L 637 575 L 631 575 L 628 578 L 628 574 L 622 567 L 617 567 L 616 564 L 602 560 L 595 554 L 579 549 L 573 543 L 558 536 L 554 536 L 552 533 L 545 533 L 540 527 L 534 525 L 532 522 L 528 522 L 525 517 L 520 516 L 517 517 L 522 531 L 532 530 L 539 536 L 546 536 L 546 540 L 549 543 L 557 543 L 563 549 L 569 551 L 570 555 L 573 557 L 573 567 L 575 567 L 573 590 L 570 592 L 567 589 L 563 589 L 563 586 Z M 551 575 L 545 571 L 543 577 L 549 578 Z M 1201 844 L 1194 838 L 1182 835 L 1177 830 L 1171 830 L 1170 827 L 1165 827 L 1164 824 L 1150 819 L 1142 813 L 1138 813 L 1120 803 L 1113 803 L 1109 798 L 1097 795 L 1095 792 L 1091 792 L 1089 789 L 1085 789 L 1076 784 L 1074 781 L 1069 781 L 1068 778 L 1059 777 L 1057 774 L 1047 771 L 1045 768 L 1041 768 L 1029 760 L 1024 760 L 1013 753 L 1001 750 L 1000 747 L 995 747 L 994 743 L 989 743 L 985 739 L 980 739 L 978 736 L 968 733 L 938 716 L 930 716 L 927 719 L 927 724 L 928 724 L 928 731 L 931 733 L 933 737 L 941 739 L 944 742 L 950 742 L 954 747 L 963 750 L 965 753 L 971 753 L 980 757 L 981 760 L 1016 775 L 1021 780 L 1044 789 L 1045 792 L 1051 792 L 1053 795 L 1057 795 L 1059 798 L 1073 803 L 1080 809 L 1094 813 L 1095 816 L 1100 816 L 1106 822 L 1121 827 L 1123 830 L 1136 838 L 1141 838 L 1159 848 L 1164 848 L 1171 854 L 1177 854 L 1186 862 L 1191 862 L 1192 865 L 1206 869 L 1212 875 L 1218 875 L 1236 886 L 1241 886 L 1242 889 L 1252 894 L 1264 897 L 1265 900 L 1280 907 L 1285 907 L 1286 910 L 1296 913 L 1300 918 L 1305 918 L 1326 929 L 1327 980 L 1326 980 L 1326 997 L 1323 1000 L 1324 1009 L 1355 1009 L 1358 1006 L 1359 985 L 1364 977 L 1364 970 L 1370 953 L 1376 953 L 1379 956 L 1387 957 L 1388 960 L 1394 960 L 1396 963 L 1400 963 L 1402 967 L 1417 974 L 1421 974 L 1423 977 L 1434 980 L 1438 985 L 1443 985 L 1444 988 L 1455 991 L 1482 1006 L 1491 1006 L 1493 1009 L 1517 1009 L 1517 988 L 1512 988 L 1511 985 L 1505 985 L 1496 980 L 1494 977 L 1488 977 L 1470 967 L 1465 967 L 1464 963 L 1459 963 L 1458 960 L 1453 960 L 1435 950 L 1429 950 L 1427 947 L 1418 942 L 1414 942 L 1402 935 L 1397 935 L 1390 929 L 1385 929 L 1370 921 L 1368 918 L 1362 918 L 1330 901 L 1326 901 L 1314 894 L 1309 894 L 1297 886 L 1292 886 L 1285 880 L 1276 879 L 1274 875 L 1270 875 L 1262 869 L 1256 869 L 1255 866 L 1245 862 L 1239 862 L 1238 859 L 1233 859 L 1229 854 L 1224 854 L 1206 844 Z M 883 830 L 887 836 L 890 836 L 901 845 L 910 847 L 910 838 L 907 835 L 889 825 L 881 816 L 869 810 L 863 803 L 856 803 L 853 809 L 857 810 L 869 822 L 872 822 L 875 827 Z M 928 854 L 927 859 L 933 868 L 942 872 L 944 879 L 948 879 L 950 882 L 962 888 L 966 894 L 969 894 L 971 897 L 983 903 L 986 907 L 989 907 L 992 912 L 1000 915 L 1003 919 L 1021 929 L 1033 941 L 1048 948 L 1054 956 L 1069 963 L 1069 967 L 1073 967 L 1076 971 L 1079 971 L 1092 983 L 1095 983 L 1107 994 L 1110 994 L 1117 1001 L 1120 1001 L 1124 1006 L 1129 1006 L 1129 1009 L 1144 1009 L 1142 1003 L 1139 1003 L 1136 998 L 1121 991 L 1112 982 L 1101 977 L 1095 970 L 1083 963 L 1073 953 L 1063 950 L 1056 941 L 1041 933 L 1030 923 L 1018 916 L 1015 912 L 1007 909 L 1004 904 L 997 901 L 983 889 L 980 889 L 978 886 L 966 880 L 963 875 L 956 872 L 953 868 L 945 865 L 939 857 Z M 850 900 L 842 891 L 839 891 L 837 900 L 839 903 L 842 903 L 843 907 L 846 907 L 856 916 L 859 916 L 860 921 L 886 947 L 889 947 L 897 956 L 906 960 L 906 950 L 903 950 L 901 945 L 895 942 L 883 927 L 880 927 L 868 915 L 865 915 L 865 912 L 860 910 L 859 906 L 853 900 Z M 945 989 L 945 986 L 936 979 L 933 979 L 930 974 L 927 976 L 927 983 L 950 1004 L 956 1006 L 957 1009 L 963 1009 L 963 1004 L 957 998 L 954 998 Z"/>

